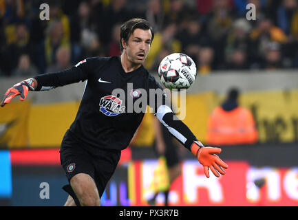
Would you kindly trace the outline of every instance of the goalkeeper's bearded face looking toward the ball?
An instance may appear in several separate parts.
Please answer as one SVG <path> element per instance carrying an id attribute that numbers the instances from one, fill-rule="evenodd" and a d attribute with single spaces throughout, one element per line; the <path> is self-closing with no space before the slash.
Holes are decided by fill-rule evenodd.
<path id="1" fill-rule="evenodd" d="M 131 63 L 144 63 L 150 50 L 151 36 L 151 30 L 137 28 L 129 36 L 127 44 L 123 42 L 127 58 Z"/>

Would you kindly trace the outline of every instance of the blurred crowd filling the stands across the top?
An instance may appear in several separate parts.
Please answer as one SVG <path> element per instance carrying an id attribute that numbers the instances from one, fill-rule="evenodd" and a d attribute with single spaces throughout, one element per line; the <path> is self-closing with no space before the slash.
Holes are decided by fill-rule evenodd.
<path id="1" fill-rule="evenodd" d="M 41 20 L 41 3 L 50 20 Z M 246 19 L 246 5 L 256 19 Z M 89 56 L 120 55 L 120 24 L 147 19 L 155 38 L 145 67 L 172 52 L 198 73 L 298 67 L 297 0 L 0 0 L 0 76 L 58 72 Z"/>

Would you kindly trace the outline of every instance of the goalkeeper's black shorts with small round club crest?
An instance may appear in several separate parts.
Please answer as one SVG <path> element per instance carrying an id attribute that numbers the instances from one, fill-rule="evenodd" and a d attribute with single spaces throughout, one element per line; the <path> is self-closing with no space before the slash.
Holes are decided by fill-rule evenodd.
<path id="1" fill-rule="evenodd" d="M 86 173 L 94 179 L 100 197 L 116 170 L 120 155 L 121 151 L 103 148 L 96 149 L 94 155 L 87 151 L 84 144 L 69 130 L 63 137 L 60 149 L 60 161 L 68 181 L 70 182 L 70 179 L 78 173 Z M 77 206 L 80 206 L 70 184 L 63 186 L 63 190 L 72 196 Z"/>

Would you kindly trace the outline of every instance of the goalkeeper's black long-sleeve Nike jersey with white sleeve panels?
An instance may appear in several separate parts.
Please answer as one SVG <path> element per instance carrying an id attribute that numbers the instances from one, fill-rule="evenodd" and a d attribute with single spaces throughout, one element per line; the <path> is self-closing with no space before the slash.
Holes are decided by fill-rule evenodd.
<path id="1" fill-rule="evenodd" d="M 70 132 L 87 148 L 123 150 L 131 141 L 147 109 L 153 109 L 160 122 L 185 147 L 190 149 L 195 135 L 175 118 L 166 95 L 157 102 L 152 89 L 162 87 L 142 65 L 126 73 L 120 56 L 92 57 L 62 72 L 39 74 L 35 91 L 49 90 L 86 80 L 83 98 Z M 116 89 L 116 90 L 115 90 Z M 147 98 L 145 98 L 147 95 Z M 145 103 L 147 100 L 147 103 Z M 143 106 L 145 105 L 145 106 Z"/>

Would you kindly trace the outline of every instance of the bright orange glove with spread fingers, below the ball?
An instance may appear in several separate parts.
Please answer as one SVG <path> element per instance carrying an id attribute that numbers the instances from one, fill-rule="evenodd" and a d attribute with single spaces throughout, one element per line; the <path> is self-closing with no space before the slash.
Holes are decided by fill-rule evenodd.
<path id="1" fill-rule="evenodd" d="M 201 142 L 193 142 L 191 145 L 191 153 L 195 155 L 200 164 L 204 166 L 204 173 L 209 178 L 209 168 L 215 177 L 220 177 L 220 174 L 224 175 L 226 172 L 222 168 L 228 168 L 228 165 L 220 159 L 215 153 L 222 152 L 221 148 L 203 146 Z"/>

